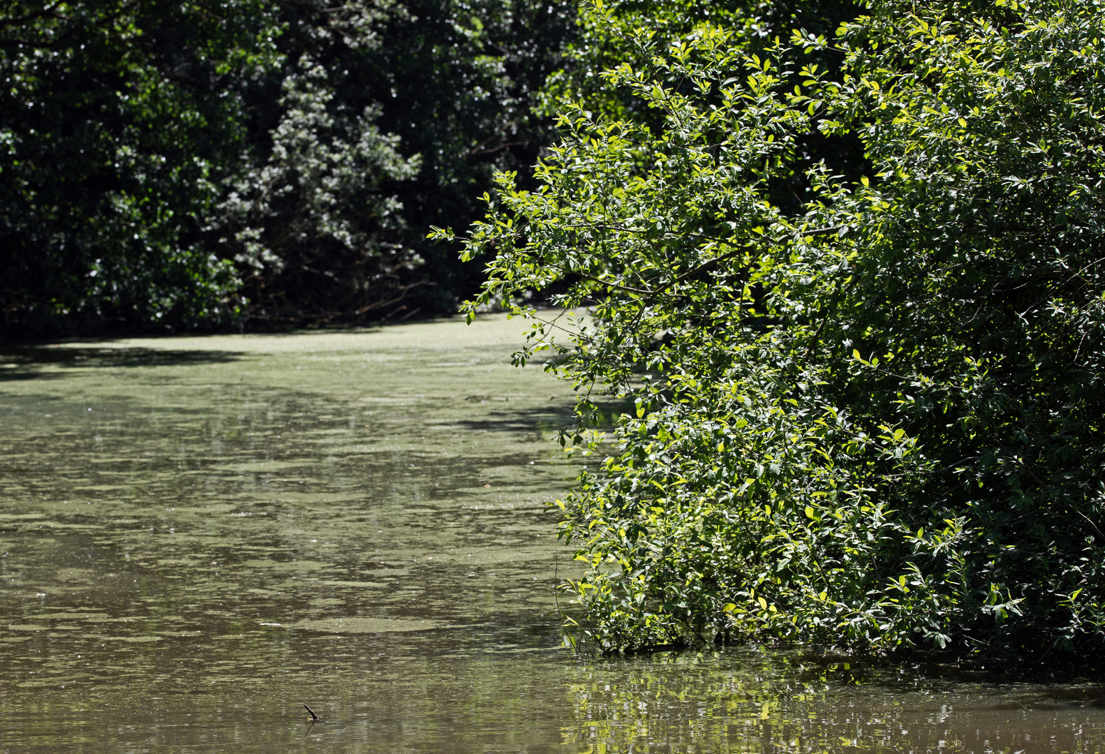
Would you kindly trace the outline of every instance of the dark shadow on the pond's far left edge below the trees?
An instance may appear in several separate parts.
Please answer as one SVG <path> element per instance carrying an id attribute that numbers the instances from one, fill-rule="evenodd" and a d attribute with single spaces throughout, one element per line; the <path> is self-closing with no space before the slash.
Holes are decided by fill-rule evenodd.
<path id="1" fill-rule="evenodd" d="M 64 371 L 44 371 L 43 367 L 183 367 L 228 364 L 244 354 L 232 350 L 173 350 L 168 348 L 110 346 L 57 347 L 22 346 L 0 349 L 0 380 L 64 377 Z"/>

